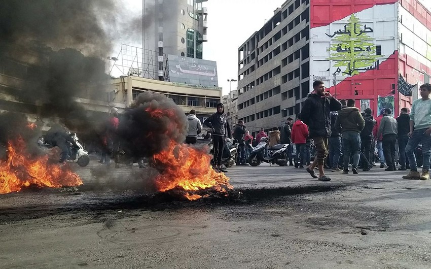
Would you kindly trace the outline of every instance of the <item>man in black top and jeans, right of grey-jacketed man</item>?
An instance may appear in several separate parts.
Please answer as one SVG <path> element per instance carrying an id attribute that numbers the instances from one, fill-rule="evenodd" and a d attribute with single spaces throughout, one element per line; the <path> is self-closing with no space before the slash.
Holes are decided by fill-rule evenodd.
<path id="1" fill-rule="evenodd" d="M 398 122 L 398 154 L 400 155 L 400 165 L 398 170 L 406 171 L 410 169 L 409 159 L 406 158 L 406 146 L 409 141 L 408 133 L 410 132 L 410 116 L 407 108 L 401 109 L 401 114 L 397 118 Z M 408 167 L 409 166 L 409 167 Z"/>

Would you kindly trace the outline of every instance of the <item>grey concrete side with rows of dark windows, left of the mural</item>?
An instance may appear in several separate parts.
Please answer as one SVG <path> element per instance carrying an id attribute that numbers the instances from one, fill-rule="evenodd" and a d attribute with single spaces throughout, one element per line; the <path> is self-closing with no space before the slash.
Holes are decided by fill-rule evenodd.
<path id="1" fill-rule="evenodd" d="M 238 118 L 256 132 L 299 113 L 309 93 L 309 0 L 289 0 L 238 51 Z"/>

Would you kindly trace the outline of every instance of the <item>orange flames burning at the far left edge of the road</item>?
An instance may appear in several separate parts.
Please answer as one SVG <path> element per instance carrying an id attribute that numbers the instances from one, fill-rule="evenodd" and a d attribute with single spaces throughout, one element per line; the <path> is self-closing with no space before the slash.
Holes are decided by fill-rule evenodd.
<path id="1" fill-rule="evenodd" d="M 8 160 L 0 162 L 0 194 L 20 191 L 30 185 L 59 188 L 81 184 L 77 174 L 67 166 L 52 163 L 48 155 L 30 158 L 22 138 L 8 142 Z"/>

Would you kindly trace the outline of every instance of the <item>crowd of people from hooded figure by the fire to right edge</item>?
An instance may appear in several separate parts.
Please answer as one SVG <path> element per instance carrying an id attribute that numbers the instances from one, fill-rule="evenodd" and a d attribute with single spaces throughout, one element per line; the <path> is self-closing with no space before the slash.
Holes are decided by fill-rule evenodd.
<path id="1" fill-rule="evenodd" d="M 355 107 L 355 100 L 337 100 L 326 91 L 322 81 L 313 82 L 313 92 L 308 95 L 302 111 L 295 123 L 291 117 L 278 128 L 273 127 L 269 135 L 261 128 L 256 136 L 259 144 L 267 138 L 268 147 L 276 144 L 289 144 L 289 164 L 297 168 L 306 167 L 311 177 L 320 181 L 329 181 L 325 169 L 334 173 L 358 174 L 370 171 L 376 162 L 385 171 L 410 170 L 404 179 L 429 179 L 431 153 L 431 85 L 420 87 L 421 98 L 415 100 L 411 112 L 402 108 L 397 118 L 393 111 L 385 108 L 377 118 L 367 108 L 363 113 Z M 217 112 L 204 122 L 213 130 L 214 159 L 217 169 L 225 172 L 221 165 L 221 152 L 226 137 L 231 138 L 230 123 L 224 114 L 223 104 L 218 104 Z M 247 165 L 253 136 L 249 134 L 245 123 L 238 121 L 233 131 L 233 138 L 239 143 L 238 165 Z M 397 149 L 398 144 L 398 149 Z M 415 150 L 421 144 L 423 166 L 419 174 Z M 311 160 L 311 148 L 315 157 Z M 217 150 L 215 150 L 217 149 Z M 312 161 L 312 162 L 311 162 Z M 317 167 L 318 174 L 314 171 Z"/>

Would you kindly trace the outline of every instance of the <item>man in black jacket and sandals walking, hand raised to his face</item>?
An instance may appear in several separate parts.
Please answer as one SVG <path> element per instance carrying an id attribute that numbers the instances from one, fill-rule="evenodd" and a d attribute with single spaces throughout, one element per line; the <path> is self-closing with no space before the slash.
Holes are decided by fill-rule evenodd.
<path id="1" fill-rule="evenodd" d="M 307 172 L 311 177 L 321 181 L 329 181 L 330 177 L 325 175 L 324 163 L 328 155 L 328 138 L 331 136 L 331 111 L 341 109 L 341 103 L 334 98 L 329 91 L 325 91 L 323 81 L 313 82 L 314 94 L 305 100 L 301 111 L 302 121 L 310 129 L 310 137 L 316 146 L 316 157 L 313 163 L 307 167 Z M 314 167 L 318 166 L 319 176 L 314 172 Z"/>

